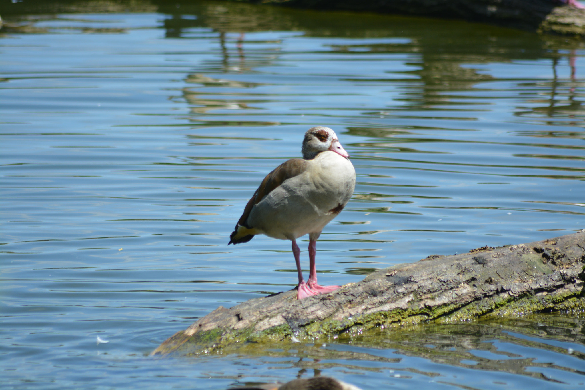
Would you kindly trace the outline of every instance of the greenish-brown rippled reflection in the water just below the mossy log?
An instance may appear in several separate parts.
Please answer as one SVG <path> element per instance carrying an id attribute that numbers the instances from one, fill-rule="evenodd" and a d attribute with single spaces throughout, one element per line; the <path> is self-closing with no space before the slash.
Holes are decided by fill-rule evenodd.
<path id="1" fill-rule="evenodd" d="M 527 337 L 528 336 L 528 337 Z M 560 343 L 551 342 L 552 340 Z M 421 323 L 404 327 L 380 327 L 359 333 L 342 333 L 333 340 L 321 343 L 238 343 L 226 346 L 222 353 L 247 357 L 269 357 L 278 364 L 295 367 L 297 370 L 362 370 L 380 372 L 395 370 L 401 363 L 400 356 L 423 358 L 428 362 L 469 369 L 470 360 L 474 369 L 482 371 L 508 372 L 524 377 L 543 378 L 542 368 L 551 368 L 550 361 L 535 360 L 534 355 L 524 357 L 502 350 L 501 344 L 513 344 L 517 348 L 534 348 L 541 353 L 570 355 L 585 360 L 583 348 L 570 348 L 572 344 L 585 344 L 585 313 L 580 310 L 567 312 L 538 313 L 522 317 L 485 318 L 470 322 Z M 339 346 L 348 346 L 345 348 Z M 355 348 L 359 347 L 359 348 Z M 390 351 L 390 353 L 387 353 Z M 501 358 L 507 360 L 502 364 Z M 263 360 L 266 361 L 266 360 Z M 359 364 L 373 362 L 375 364 Z M 583 375 L 577 368 L 561 368 L 566 373 Z M 426 367 L 429 367 L 428 365 Z M 559 366 L 556 366 L 559 368 Z M 419 367 L 420 368 L 420 367 Z M 401 371 L 422 374 L 440 379 L 436 371 L 420 371 L 402 366 Z M 429 369 L 430 370 L 430 369 Z"/>

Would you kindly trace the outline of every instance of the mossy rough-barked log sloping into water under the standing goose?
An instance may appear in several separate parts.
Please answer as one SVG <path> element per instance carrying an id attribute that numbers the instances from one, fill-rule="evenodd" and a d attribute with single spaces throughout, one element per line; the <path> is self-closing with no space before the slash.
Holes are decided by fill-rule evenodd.
<path id="1" fill-rule="evenodd" d="M 585 231 L 533 243 L 429 256 L 384 268 L 330 294 L 295 290 L 219 306 L 152 355 L 221 351 L 245 342 L 328 340 L 425 321 L 458 322 L 585 309 Z"/>

